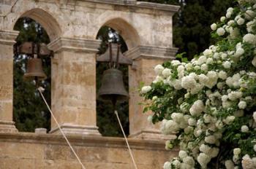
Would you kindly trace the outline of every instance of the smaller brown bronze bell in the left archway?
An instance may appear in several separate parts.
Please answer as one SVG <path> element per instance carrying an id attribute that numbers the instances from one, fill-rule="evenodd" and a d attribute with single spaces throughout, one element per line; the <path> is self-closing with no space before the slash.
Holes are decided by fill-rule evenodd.
<path id="1" fill-rule="evenodd" d="M 24 74 L 24 79 L 26 80 L 43 80 L 46 79 L 44 71 L 42 71 L 42 60 L 39 58 L 30 58 L 28 60 L 28 65 L 26 69 L 26 74 Z"/>

